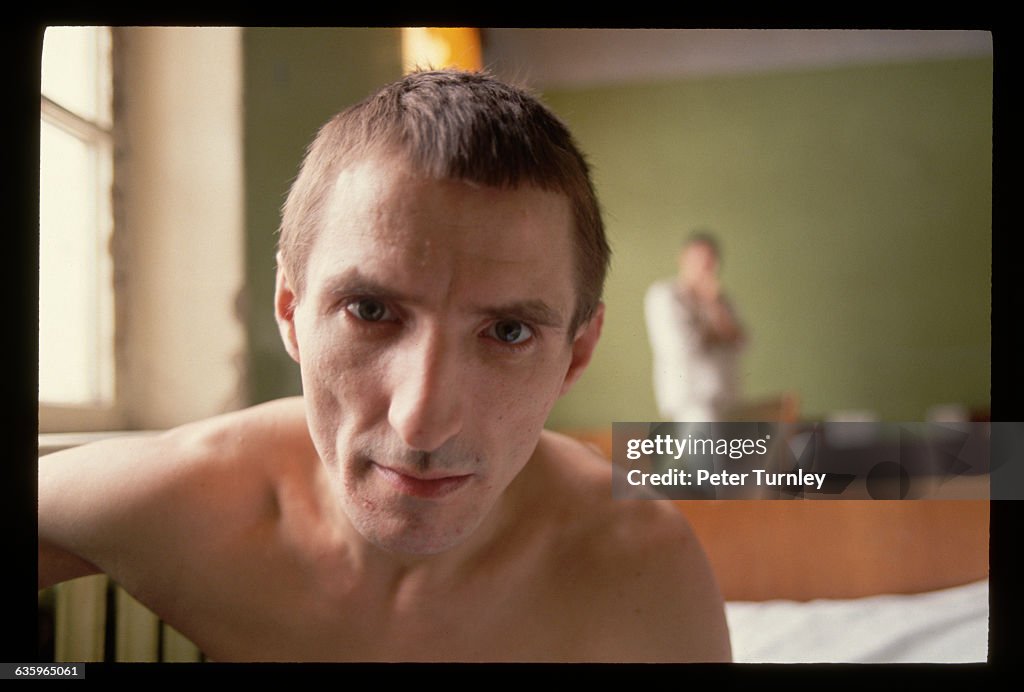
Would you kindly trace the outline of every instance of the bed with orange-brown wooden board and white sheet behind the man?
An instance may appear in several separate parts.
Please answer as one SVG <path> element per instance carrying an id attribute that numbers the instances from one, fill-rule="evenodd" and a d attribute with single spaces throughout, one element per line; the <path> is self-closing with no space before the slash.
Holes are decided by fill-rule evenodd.
<path id="1" fill-rule="evenodd" d="M 987 502 L 677 505 L 719 579 L 736 662 L 987 659 Z"/>

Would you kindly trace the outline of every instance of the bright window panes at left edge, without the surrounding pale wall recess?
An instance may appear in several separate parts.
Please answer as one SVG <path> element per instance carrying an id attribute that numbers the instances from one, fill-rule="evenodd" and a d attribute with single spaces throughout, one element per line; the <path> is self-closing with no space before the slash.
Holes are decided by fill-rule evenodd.
<path id="1" fill-rule="evenodd" d="M 54 427 L 46 415 L 53 409 L 93 414 L 93 423 L 71 427 L 113 423 L 111 73 L 109 28 L 47 29 L 40 89 L 42 429 Z"/>

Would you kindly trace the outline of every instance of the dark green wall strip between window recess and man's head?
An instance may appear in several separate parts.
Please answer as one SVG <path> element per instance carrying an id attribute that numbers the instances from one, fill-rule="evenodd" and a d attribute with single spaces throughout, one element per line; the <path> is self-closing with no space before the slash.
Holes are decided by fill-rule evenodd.
<path id="1" fill-rule="evenodd" d="M 247 29 L 246 279 L 251 402 L 302 391 L 273 319 L 274 248 L 306 146 L 334 114 L 401 76 L 397 29 Z"/>

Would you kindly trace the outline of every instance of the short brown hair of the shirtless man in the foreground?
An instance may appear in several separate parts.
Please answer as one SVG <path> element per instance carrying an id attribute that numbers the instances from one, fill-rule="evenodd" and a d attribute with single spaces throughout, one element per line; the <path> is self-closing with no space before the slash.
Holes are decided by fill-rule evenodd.
<path id="1" fill-rule="evenodd" d="M 409 75 L 321 128 L 282 213 L 279 250 L 296 295 L 338 174 L 386 152 L 400 153 L 438 179 L 508 188 L 530 184 L 565 194 L 577 249 L 570 337 L 593 316 L 610 250 L 590 167 L 568 128 L 523 89 L 486 73 L 447 70 Z"/>

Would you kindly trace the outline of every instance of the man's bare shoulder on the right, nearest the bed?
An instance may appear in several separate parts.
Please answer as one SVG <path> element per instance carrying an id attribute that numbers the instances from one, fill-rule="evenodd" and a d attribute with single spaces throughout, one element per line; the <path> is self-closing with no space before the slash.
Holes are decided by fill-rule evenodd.
<path id="1" fill-rule="evenodd" d="M 662 500 L 613 500 L 610 462 L 545 433 L 549 498 L 565 518 L 557 568 L 589 604 L 598 660 L 721 661 L 730 657 L 724 606 L 689 522 Z"/>

